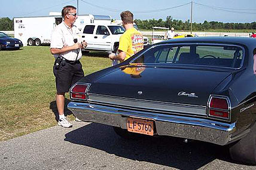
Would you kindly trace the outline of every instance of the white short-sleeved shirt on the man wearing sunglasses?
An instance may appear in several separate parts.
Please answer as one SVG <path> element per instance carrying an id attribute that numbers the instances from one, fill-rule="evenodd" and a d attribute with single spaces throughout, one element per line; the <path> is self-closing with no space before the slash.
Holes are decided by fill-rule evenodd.
<path id="1" fill-rule="evenodd" d="M 62 23 L 53 29 L 50 48 L 61 49 L 66 46 L 74 45 L 75 38 L 77 38 L 77 27 L 73 25 L 72 28 L 70 28 L 62 21 Z M 54 57 L 57 58 L 59 55 L 66 58 L 66 60 L 75 61 L 76 58 L 79 60 L 82 57 L 82 52 L 81 49 L 78 48 L 77 50 L 63 52 L 62 54 L 54 54 Z"/>

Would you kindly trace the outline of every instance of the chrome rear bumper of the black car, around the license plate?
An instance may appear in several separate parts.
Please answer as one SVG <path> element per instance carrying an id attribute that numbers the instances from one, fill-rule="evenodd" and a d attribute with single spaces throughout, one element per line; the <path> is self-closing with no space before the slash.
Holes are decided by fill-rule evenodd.
<path id="1" fill-rule="evenodd" d="M 219 145 L 229 143 L 236 129 L 236 122 L 229 124 L 208 119 L 140 112 L 89 103 L 70 102 L 68 109 L 80 120 L 123 129 L 127 129 L 127 117 L 151 119 L 156 124 L 157 135 L 188 138 Z"/>

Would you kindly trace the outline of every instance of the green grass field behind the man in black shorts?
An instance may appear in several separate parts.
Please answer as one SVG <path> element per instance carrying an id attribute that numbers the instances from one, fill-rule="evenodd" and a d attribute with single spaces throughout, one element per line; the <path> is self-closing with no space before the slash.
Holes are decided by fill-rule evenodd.
<path id="1" fill-rule="evenodd" d="M 0 141 L 56 125 L 54 58 L 49 47 L 0 51 L 0 57 Z M 81 63 L 86 75 L 111 66 L 104 53 L 84 55 Z"/>

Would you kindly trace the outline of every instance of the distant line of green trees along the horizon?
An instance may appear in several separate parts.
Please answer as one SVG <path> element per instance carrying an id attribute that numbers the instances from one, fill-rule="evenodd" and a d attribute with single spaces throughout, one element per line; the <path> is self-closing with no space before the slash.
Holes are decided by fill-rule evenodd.
<path id="1" fill-rule="evenodd" d="M 151 30 L 152 27 L 174 27 L 176 30 L 190 30 L 190 20 L 182 21 L 175 20 L 172 16 L 167 16 L 166 20 L 163 19 L 150 19 L 139 20 L 136 19 L 135 23 L 139 29 Z M 252 23 L 222 23 L 218 21 L 204 21 L 203 23 L 193 23 L 193 30 L 209 30 L 209 29 L 253 29 L 256 30 L 256 22 Z M 0 17 L 0 30 L 14 30 L 13 19 L 8 17 Z"/>

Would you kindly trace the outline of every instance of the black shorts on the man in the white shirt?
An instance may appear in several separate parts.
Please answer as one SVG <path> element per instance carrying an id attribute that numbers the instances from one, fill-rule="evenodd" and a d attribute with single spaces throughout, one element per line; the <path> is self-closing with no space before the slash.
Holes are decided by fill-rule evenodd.
<path id="1" fill-rule="evenodd" d="M 56 69 L 56 65 L 54 64 L 53 73 L 56 78 L 57 93 L 69 92 L 71 86 L 84 77 L 84 71 L 80 61 L 60 64 L 58 69 Z"/>

